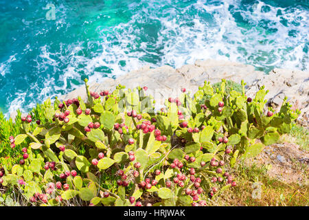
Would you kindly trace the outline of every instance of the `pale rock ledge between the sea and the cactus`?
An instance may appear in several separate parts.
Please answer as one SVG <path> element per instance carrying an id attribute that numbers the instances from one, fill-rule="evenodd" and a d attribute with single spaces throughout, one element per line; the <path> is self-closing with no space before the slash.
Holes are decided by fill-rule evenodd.
<path id="1" fill-rule="evenodd" d="M 309 72 L 300 70 L 276 68 L 264 74 L 256 71 L 252 65 L 231 61 L 197 60 L 194 65 L 184 65 L 178 69 L 168 65 L 155 69 L 144 66 L 115 80 L 106 78 L 103 83 L 92 83 L 89 87 L 90 91 L 100 93 L 102 90 L 113 91 L 118 84 L 130 89 L 146 86 L 148 94 L 154 96 L 156 101 L 159 100 L 156 102 L 157 109 L 163 105 L 165 98 L 179 92 L 182 87 L 194 94 L 198 86 L 203 86 L 205 80 L 218 83 L 222 78 L 236 83 L 243 79 L 247 83 L 247 96 L 250 97 L 254 97 L 253 94 L 264 85 L 269 90 L 266 95 L 268 105 L 275 109 L 281 106 L 284 97 L 287 96 L 294 109 L 301 109 L 300 124 L 309 125 Z M 60 100 L 77 96 L 87 98 L 84 86 L 61 96 Z"/>

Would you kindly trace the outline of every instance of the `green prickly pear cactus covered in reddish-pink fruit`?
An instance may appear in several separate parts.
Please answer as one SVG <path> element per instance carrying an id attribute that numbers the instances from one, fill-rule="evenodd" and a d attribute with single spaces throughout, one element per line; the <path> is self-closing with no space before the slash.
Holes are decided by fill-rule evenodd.
<path id="1" fill-rule="evenodd" d="M 299 115 L 286 100 L 265 113 L 264 87 L 247 98 L 243 82 L 242 93 L 229 94 L 225 82 L 215 91 L 205 82 L 194 97 L 182 88 L 155 112 L 147 87 L 98 94 L 85 80 L 87 102 L 45 101 L 46 120 L 32 133 L 33 115 L 22 118 L 11 147 L 31 143 L 19 164 L 0 169 L 0 186 L 18 188 L 33 206 L 76 198 L 87 206 L 207 206 L 236 186 L 229 173 L 238 160 L 277 142 Z M 104 175 L 117 184 L 102 184 Z M 149 195 L 155 203 L 144 201 Z"/>

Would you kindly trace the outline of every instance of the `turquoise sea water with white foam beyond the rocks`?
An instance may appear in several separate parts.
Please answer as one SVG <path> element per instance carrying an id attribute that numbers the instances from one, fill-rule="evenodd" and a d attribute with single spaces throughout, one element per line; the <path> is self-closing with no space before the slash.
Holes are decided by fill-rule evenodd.
<path id="1" fill-rule="evenodd" d="M 308 70 L 308 21 L 306 0 L 0 0 L 0 108 L 198 58 Z"/>

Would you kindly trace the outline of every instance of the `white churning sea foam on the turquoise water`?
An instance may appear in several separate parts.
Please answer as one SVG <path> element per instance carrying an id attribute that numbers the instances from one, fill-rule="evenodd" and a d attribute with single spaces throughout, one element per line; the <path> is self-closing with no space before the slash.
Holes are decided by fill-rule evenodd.
<path id="1" fill-rule="evenodd" d="M 47 76 L 45 87 L 39 94 L 17 93 L 10 111 L 21 107 L 27 109 L 25 96 L 40 102 L 47 96 L 54 97 L 68 91 L 68 87 L 69 90 L 79 87 L 80 85 L 72 81 L 77 80 L 82 84 L 80 72 L 90 76 L 90 83 L 100 83 L 106 77 L 115 78 L 144 65 L 159 67 L 168 64 L 181 67 L 194 63 L 196 59 L 207 58 L 239 61 L 270 69 L 309 68 L 308 52 L 304 52 L 309 42 L 309 12 L 304 8 L 279 8 L 258 1 L 249 6 L 251 10 L 244 10 L 240 7 L 240 1 L 236 0 L 227 0 L 224 3 L 198 0 L 184 8 L 174 8 L 173 3 L 174 1 L 165 1 L 164 4 L 169 6 L 164 10 L 158 8 L 155 0 L 132 3 L 128 5 L 128 10 L 137 11 L 134 9 L 138 7 L 141 9 L 133 14 L 127 23 L 119 23 L 109 28 L 97 23 L 95 31 L 98 32 L 98 39 L 91 39 L 87 45 L 98 45 L 100 50 L 91 56 L 83 55 L 82 51 L 87 48 L 84 48 L 85 42 L 79 39 L 70 45 L 60 45 L 60 51 L 54 53 L 48 45 L 42 46 L 41 54 L 36 60 L 38 72 L 53 66 L 55 73 L 63 73 L 60 76 L 62 83 L 54 80 L 54 76 Z M 60 19 L 57 29 L 65 27 L 66 17 L 63 11 L 69 10 L 64 9 L 64 5 L 61 7 L 63 10 L 58 11 Z M 265 7 L 268 10 L 265 11 Z M 281 10 L 282 15 L 277 15 L 278 10 Z M 236 12 L 247 23 L 239 23 L 233 16 Z M 205 14 L 205 17 L 200 14 Z M 107 15 L 95 15 L 97 19 L 100 17 Z M 86 17 L 84 25 L 91 27 L 92 19 Z M 286 20 L 287 25 L 280 22 L 282 19 Z M 156 30 L 157 27 L 151 24 L 152 22 L 159 23 L 160 28 Z M 267 28 L 263 27 L 262 22 Z M 146 41 L 141 40 L 146 37 L 143 34 L 143 25 L 153 25 L 149 31 L 157 32 Z M 295 36 L 289 36 L 290 32 L 295 32 Z M 150 59 L 144 59 L 145 57 Z M 126 65 L 119 65 L 119 61 L 124 61 Z M 64 63 L 65 69 L 59 69 Z M 97 67 L 108 67 L 111 74 L 95 71 Z M 1 63 L 1 74 L 5 72 L 2 71 L 5 68 L 8 68 L 8 64 Z"/>

